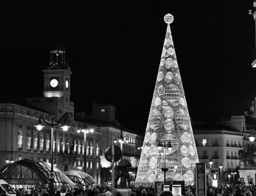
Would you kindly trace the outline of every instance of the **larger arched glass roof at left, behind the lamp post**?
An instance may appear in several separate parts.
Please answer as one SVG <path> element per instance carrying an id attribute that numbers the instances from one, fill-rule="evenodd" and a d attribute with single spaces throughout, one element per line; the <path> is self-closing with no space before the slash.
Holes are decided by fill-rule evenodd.
<path id="1" fill-rule="evenodd" d="M 54 184 L 56 187 L 75 187 L 75 183 L 55 166 L 53 166 L 53 172 L 55 174 Z M 9 184 L 39 184 L 42 187 L 48 187 L 50 183 L 50 179 L 48 179 L 49 173 L 49 162 L 29 159 L 4 165 L 0 169 L 1 179 L 4 179 Z"/>

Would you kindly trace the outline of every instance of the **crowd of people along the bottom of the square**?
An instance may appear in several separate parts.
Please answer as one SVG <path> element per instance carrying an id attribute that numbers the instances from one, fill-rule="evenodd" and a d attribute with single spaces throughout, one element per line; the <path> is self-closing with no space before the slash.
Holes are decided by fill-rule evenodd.
<path id="1" fill-rule="evenodd" d="M 131 196 L 154 196 L 153 187 L 137 187 L 131 189 Z M 46 189 L 15 189 L 17 196 L 49 196 Z M 195 186 L 185 187 L 182 196 L 195 196 Z M 0 196 L 5 196 L 0 193 Z M 89 187 L 86 189 L 59 189 L 56 196 L 112 196 L 111 187 Z M 115 191 L 115 195 L 121 196 L 120 192 Z M 157 195 L 156 195 L 157 196 Z M 159 196 L 173 196 L 171 191 L 162 192 Z M 242 184 L 227 184 L 221 187 L 207 187 L 206 196 L 256 196 L 256 187 L 254 185 L 246 186 Z"/>

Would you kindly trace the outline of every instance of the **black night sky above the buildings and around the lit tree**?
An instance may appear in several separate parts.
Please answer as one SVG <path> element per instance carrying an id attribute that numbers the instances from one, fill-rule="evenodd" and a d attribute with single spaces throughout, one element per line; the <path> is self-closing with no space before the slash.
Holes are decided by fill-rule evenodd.
<path id="1" fill-rule="evenodd" d="M 1 94 L 42 95 L 48 52 L 62 42 L 75 109 L 90 113 L 92 101 L 111 103 L 118 121 L 144 134 L 170 12 L 190 117 L 244 114 L 256 96 L 252 1 L 166 2 L 2 7 Z"/>

